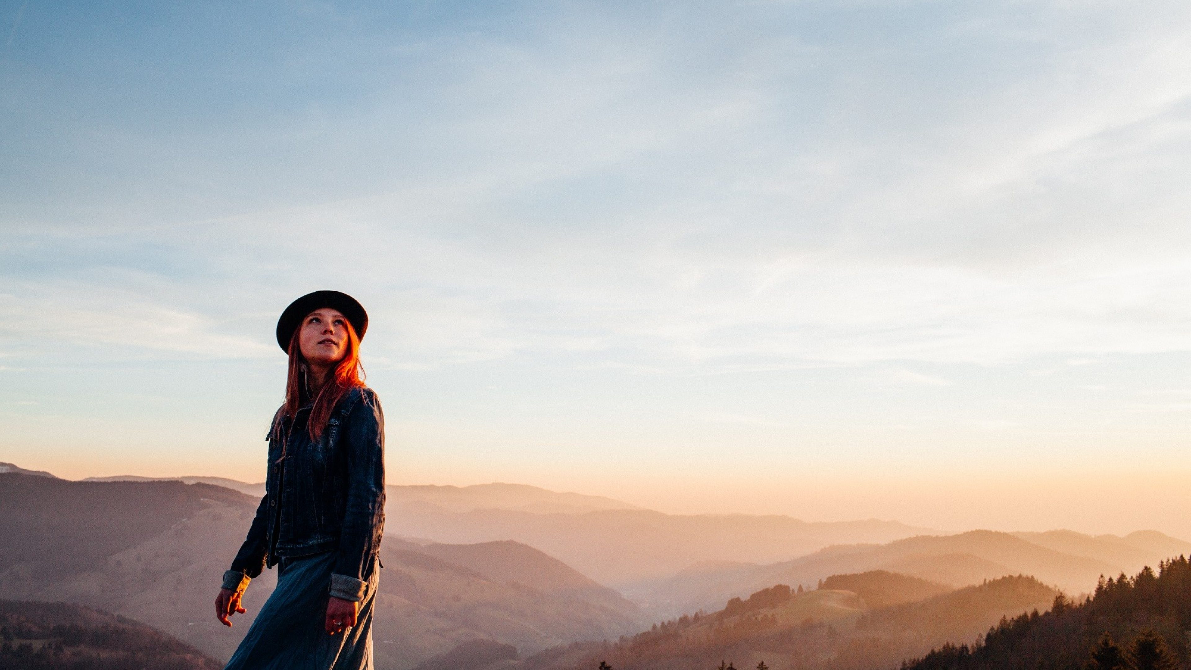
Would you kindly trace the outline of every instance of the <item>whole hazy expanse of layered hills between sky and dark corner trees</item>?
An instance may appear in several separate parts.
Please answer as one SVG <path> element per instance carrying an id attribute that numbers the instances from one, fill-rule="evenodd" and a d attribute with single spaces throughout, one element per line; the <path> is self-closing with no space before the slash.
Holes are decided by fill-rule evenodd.
<path id="1" fill-rule="evenodd" d="M 63 621 L 107 631 L 111 613 L 176 638 L 182 651 L 169 658 L 187 668 L 218 666 L 275 583 L 272 570 L 252 581 L 232 628 L 208 613 L 258 484 L 0 469 L 0 600 L 21 613 L 0 616 L 23 622 L 8 626 L 25 631 L 18 646 L 52 649 Z M 386 515 L 382 670 L 711 669 L 721 657 L 741 669 L 878 670 L 1191 553 L 1145 529 L 942 534 L 896 521 L 678 516 L 516 484 L 389 486 Z M 37 604 L 55 602 L 93 609 Z"/>

